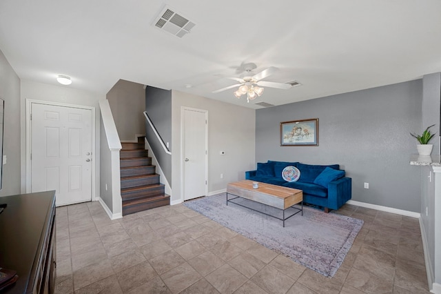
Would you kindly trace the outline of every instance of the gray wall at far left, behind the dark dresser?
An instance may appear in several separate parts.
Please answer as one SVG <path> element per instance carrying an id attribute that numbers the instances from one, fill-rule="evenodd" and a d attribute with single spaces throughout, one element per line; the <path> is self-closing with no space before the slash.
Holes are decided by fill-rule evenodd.
<path id="1" fill-rule="evenodd" d="M 0 196 L 21 193 L 20 173 L 20 79 L 0 50 L 0 97 L 5 100 L 3 155 L 3 185 Z"/>

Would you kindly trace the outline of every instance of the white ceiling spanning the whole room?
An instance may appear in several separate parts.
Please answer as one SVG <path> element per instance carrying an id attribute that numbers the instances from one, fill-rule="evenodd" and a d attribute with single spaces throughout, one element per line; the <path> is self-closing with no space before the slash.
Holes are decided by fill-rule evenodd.
<path id="1" fill-rule="evenodd" d="M 191 34 L 152 26 L 165 5 L 196 23 Z M 260 108 L 441 72 L 441 1 L 1 0 L 0 50 L 21 79 L 68 75 L 100 94 L 125 79 Z M 249 104 L 235 89 L 212 94 L 248 62 L 302 86 Z"/>

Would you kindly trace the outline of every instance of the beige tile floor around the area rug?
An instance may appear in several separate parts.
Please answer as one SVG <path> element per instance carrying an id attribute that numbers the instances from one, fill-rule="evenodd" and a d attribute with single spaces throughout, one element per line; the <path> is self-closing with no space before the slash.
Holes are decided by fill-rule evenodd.
<path id="1" fill-rule="evenodd" d="M 327 278 L 182 204 L 113 221 L 98 202 L 60 207 L 55 293 L 429 293 L 418 219 L 334 213 L 365 224 Z"/>

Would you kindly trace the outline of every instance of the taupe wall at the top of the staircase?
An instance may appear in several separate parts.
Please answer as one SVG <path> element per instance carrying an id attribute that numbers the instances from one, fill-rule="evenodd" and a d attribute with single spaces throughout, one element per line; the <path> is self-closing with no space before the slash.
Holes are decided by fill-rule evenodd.
<path id="1" fill-rule="evenodd" d="M 145 134 L 145 118 L 143 115 L 145 93 L 143 85 L 120 79 L 107 92 L 106 97 L 112 109 L 119 139 L 133 141 L 136 139 L 135 135 Z"/>

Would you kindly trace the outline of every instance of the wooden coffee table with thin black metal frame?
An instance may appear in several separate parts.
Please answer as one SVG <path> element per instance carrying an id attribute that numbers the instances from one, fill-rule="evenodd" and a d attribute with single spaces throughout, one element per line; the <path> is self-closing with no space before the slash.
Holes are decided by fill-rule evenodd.
<path id="1" fill-rule="evenodd" d="M 253 181 L 247 179 L 244 179 L 243 181 L 240 182 L 229 183 L 227 186 L 227 205 L 228 202 L 231 202 L 236 205 L 249 208 L 248 206 L 238 204 L 232 201 L 238 198 L 245 198 L 252 200 L 254 202 L 266 204 L 268 206 L 281 209 L 283 210 L 283 218 L 276 217 L 275 215 L 269 215 L 260 210 L 249 208 L 251 210 L 257 211 L 258 213 L 263 213 L 264 215 L 269 215 L 270 217 L 275 217 L 276 219 L 280 219 L 281 221 L 283 221 L 283 227 L 285 227 L 285 220 L 289 219 L 289 217 L 292 217 L 293 215 L 296 215 L 297 213 L 300 212 L 303 215 L 302 190 L 287 188 L 283 186 L 276 186 L 266 183 L 260 183 L 260 182 L 258 183 L 258 186 L 259 187 L 257 189 L 254 189 Z M 229 199 L 228 194 L 234 195 L 236 197 Z M 297 210 L 296 213 L 293 213 L 292 215 L 285 217 L 285 210 L 299 203 L 301 205 L 301 208 L 293 207 L 294 209 Z"/>

